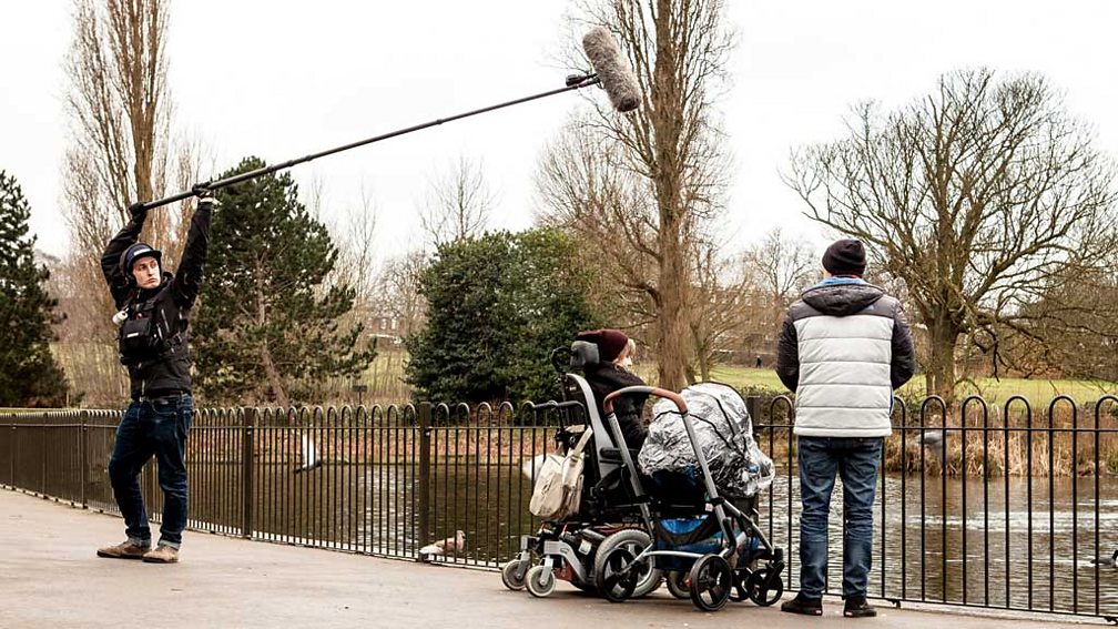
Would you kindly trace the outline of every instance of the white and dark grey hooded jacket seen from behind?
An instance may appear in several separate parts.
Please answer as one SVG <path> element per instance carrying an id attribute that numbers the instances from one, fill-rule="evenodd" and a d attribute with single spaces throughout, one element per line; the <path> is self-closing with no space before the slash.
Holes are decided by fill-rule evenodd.
<path id="1" fill-rule="evenodd" d="M 885 436 L 893 389 L 916 367 L 897 299 L 861 280 L 833 279 L 788 308 L 776 372 L 796 392 L 803 436 Z"/>

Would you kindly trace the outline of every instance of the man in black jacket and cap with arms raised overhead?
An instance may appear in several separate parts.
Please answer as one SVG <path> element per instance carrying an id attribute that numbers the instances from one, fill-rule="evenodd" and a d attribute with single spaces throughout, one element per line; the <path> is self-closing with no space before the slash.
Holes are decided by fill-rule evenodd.
<path id="1" fill-rule="evenodd" d="M 190 395 L 190 355 L 187 325 L 202 283 L 209 247 L 210 213 L 218 203 L 205 188 L 190 218 L 190 233 L 178 274 L 162 266 L 162 253 L 138 242 L 148 206 L 129 207 L 132 220 L 101 257 L 101 269 L 120 311 L 117 341 L 127 367 L 132 403 L 116 429 L 108 478 L 124 516 L 127 539 L 97 550 L 97 556 L 177 563 L 187 526 L 187 433 L 195 412 Z M 159 545 L 151 547 L 151 528 L 140 491 L 140 470 L 152 457 L 163 491 L 163 523 Z"/>

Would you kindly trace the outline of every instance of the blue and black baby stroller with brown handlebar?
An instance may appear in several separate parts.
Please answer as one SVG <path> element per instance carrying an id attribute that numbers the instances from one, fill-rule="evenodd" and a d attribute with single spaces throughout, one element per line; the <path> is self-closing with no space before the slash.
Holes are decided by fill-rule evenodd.
<path id="1" fill-rule="evenodd" d="M 642 518 L 655 542 L 650 542 L 636 553 L 632 547 L 616 547 L 603 553 L 604 556 L 597 560 L 603 565 L 599 579 L 601 593 L 612 602 L 624 601 L 635 592 L 638 575 L 660 569 L 669 571 L 667 585 L 673 595 L 688 595 L 695 607 L 704 611 L 721 609 L 731 598 L 748 598 L 759 605 L 775 603 L 784 593 L 780 579 L 784 551 L 774 548 L 757 526 L 754 519 L 756 497 L 739 507 L 720 496 L 692 417 L 688 414 L 686 402 L 676 393 L 655 387 L 626 387 L 606 396 L 607 422 L 618 442 L 624 443 L 624 436 L 612 410 L 613 401 L 632 393 L 655 395 L 675 405 L 698 460 L 705 498 L 701 504 L 692 504 L 690 513 L 685 504 L 673 505 L 662 492 L 656 492 L 651 505 L 639 503 Z M 629 451 L 624 447 L 620 451 L 626 467 L 633 470 L 628 475 L 633 491 L 643 495 L 642 479 L 635 472 L 636 466 Z M 690 515 L 691 522 L 698 526 L 686 531 L 674 528 L 674 524 L 688 522 L 679 515 Z"/>

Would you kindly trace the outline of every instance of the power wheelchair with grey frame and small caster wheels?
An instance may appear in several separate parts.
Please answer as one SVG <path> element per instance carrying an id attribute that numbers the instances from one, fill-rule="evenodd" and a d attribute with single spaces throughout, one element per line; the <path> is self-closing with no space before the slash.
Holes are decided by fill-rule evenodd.
<path id="1" fill-rule="evenodd" d="M 565 580 L 580 590 L 599 592 L 605 556 L 618 548 L 635 555 L 652 543 L 648 520 L 639 508 L 645 498 L 643 492 L 634 492 L 639 487 L 631 479 L 635 468 L 625 462 L 635 454 L 627 450 L 623 454 L 616 445 L 586 378 L 567 370 L 578 372 L 597 362 L 597 347 L 586 341 L 551 353 L 563 401 L 532 406 L 557 412 L 556 440 L 563 453 L 578 442 L 584 430 L 593 431 L 585 451 L 582 496 L 577 514 L 559 522 L 543 522 L 536 535 L 521 537 L 520 553 L 501 571 L 501 580 L 510 590 L 527 589 L 534 597 L 547 597 L 557 580 Z M 631 575 L 629 597 L 643 597 L 663 582 L 662 572 L 651 565 L 637 566 Z"/>

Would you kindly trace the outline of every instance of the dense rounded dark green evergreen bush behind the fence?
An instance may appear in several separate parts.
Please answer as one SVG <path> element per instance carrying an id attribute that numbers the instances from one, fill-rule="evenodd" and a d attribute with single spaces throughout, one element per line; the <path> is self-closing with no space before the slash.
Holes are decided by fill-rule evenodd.
<path id="1" fill-rule="evenodd" d="M 548 359 L 597 327 L 570 241 L 556 229 L 444 244 L 424 272 L 427 328 L 405 339 L 419 398 L 499 402 L 559 394 Z"/>

